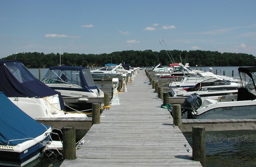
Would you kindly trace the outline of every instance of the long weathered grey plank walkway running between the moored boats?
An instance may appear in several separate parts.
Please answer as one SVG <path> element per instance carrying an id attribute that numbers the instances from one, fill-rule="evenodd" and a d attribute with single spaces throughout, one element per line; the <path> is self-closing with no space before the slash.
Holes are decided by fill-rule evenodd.
<path id="1" fill-rule="evenodd" d="M 127 91 L 118 94 L 120 105 L 105 109 L 101 123 L 92 125 L 77 159 L 64 160 L 61 167 L 201 166 L 192 160 L 192 148 L 168 110 L 160 108 L 144 71 Z"/>

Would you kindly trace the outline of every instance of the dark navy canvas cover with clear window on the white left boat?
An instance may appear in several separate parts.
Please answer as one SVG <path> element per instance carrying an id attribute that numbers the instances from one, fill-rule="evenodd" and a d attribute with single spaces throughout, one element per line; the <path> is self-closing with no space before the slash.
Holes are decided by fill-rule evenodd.
<path id="1" fill-rule="evenodd" d="M 21 62 L 0 60 L 0 78 L 0 91 L 7 97 L 42 98 L 58 94 L 61 109 L 65 111 L 60 92 L 40 82 Z"/>

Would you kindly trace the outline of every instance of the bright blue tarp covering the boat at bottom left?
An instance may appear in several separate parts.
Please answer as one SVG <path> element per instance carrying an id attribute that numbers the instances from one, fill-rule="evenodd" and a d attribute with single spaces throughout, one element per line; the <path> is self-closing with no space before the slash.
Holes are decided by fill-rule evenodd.
<path id="1" fill-rule="evenodd" d="M 17 145 L 42 135 L 50 126 L 40 124 L 0 92 L 0 145 Z M 47 128 L 47 129 L 46 129 Z M 17 141 L 10 141 L 22 139 Z M 8 143 L 9 141 L 9 143 Z"/>

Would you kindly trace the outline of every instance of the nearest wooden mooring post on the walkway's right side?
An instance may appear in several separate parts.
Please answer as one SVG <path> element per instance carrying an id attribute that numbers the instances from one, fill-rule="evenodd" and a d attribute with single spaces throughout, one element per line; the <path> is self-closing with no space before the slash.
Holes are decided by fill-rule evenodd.
<path id="1" fill-rule="evenodd" d="M 202 126 L 192 127 L 192 145 L 193 153 L 192 159 L 200 161 L 203 167 L 206 166 L 205 160 L 205 128 Z"/>

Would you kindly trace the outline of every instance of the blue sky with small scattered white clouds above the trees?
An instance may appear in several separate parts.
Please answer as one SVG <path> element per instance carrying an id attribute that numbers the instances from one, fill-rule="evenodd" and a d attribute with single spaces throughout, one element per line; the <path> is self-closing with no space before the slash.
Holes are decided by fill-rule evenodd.
<path id="1" fill-rule="evenodd" d="M 255 7 L 256 0 L 0 0 L 0 58 L 163 49 L 256 56 Z"/>

